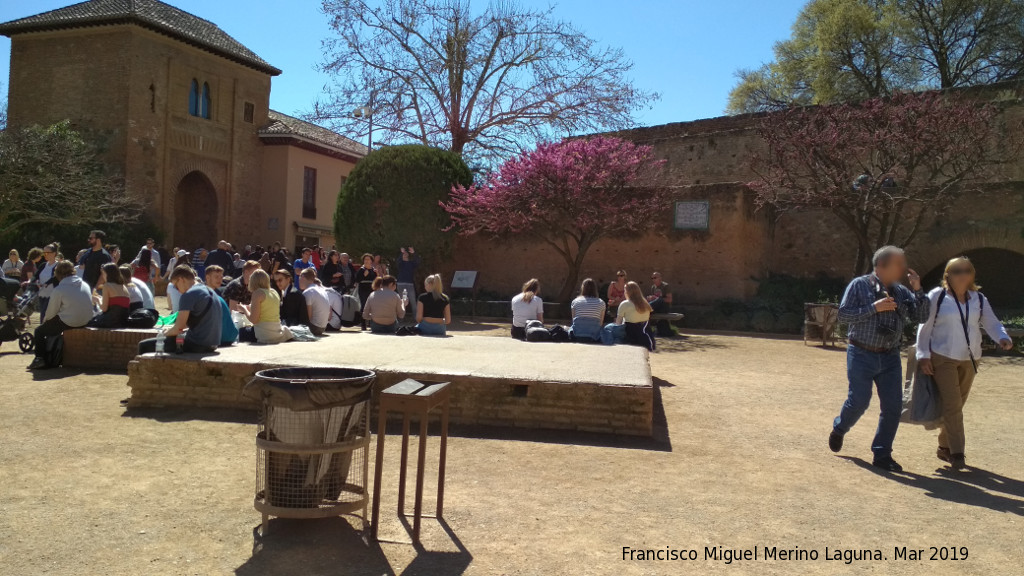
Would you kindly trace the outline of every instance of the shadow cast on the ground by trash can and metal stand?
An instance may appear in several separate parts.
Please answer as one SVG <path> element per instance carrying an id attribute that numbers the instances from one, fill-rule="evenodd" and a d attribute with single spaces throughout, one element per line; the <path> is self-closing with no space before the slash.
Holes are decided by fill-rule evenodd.
<path id="1" fill-rule="evenodd" d="M 253 531 L 253 556 L 234 573 L 238 576 L 459 576 L 469 567 L 473 557 L 451 527 L 439 522 L 456 549 L 436 551 L 409 544 L 416 557 L 401 572 L 395 572 L 380 545 L 365 540 L 344 519 L 273 519 L 265 536 Z"/>

